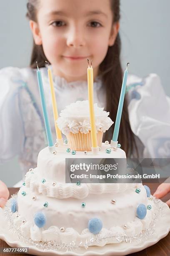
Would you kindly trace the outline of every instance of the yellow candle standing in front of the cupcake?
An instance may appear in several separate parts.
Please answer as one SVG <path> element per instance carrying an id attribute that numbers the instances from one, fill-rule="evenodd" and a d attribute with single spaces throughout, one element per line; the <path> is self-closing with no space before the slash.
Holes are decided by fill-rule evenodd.
<path id="1" fill-rule="evenodd" d="M 90 110 L 90 125 L 91 125 L 91 138 L 92 138 L 92 148 L 97 148 L 97 133 L 95 126 L 95 111 L 93 103 L 93 69 L 92 66 L 88 65 L 87 68 L 87 81 L 88 81 L 88 100 L 89 100 L 89 110 Z"/>

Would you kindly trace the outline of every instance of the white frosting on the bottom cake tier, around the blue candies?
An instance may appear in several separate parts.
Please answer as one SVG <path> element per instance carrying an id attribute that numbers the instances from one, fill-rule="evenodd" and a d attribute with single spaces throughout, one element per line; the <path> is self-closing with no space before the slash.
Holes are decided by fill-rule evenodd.
<path id="1" fill-rule="evenodd" d="M 154 215 L 154 202 L 148 200 L 143 186 L 140 187 L 140 194 L 132 188 L 128 189 L 127 193 L 118 193 L 115 197 L 117 200 L 115 205 L 110 203 L 111 194 L 100 197 L 90 195 L 85 200 L 85 208 L 81 207 L 81 200 L 73 198 L 56 200 L 54 198 L 47 199 L 45 195 L 38 195 L 37 200 L 33 201 L 32 196 L 34 194 L 30 189 L 25 188 L 25 197 L 21 195 L 22 189 L 18 193 L 19 208 L 17 213 L 20 216 L 16 218 L 15 213 L 13 218 L 15 223 L 21 225 L 24 236 L 30 237 L 33 241 L 55 240 L 57 243 L 75 241 L 76 244 L 80 244 L 80 242 L 85 243 L 91 238 L 95 240 L 96 235 L 90 233 L 87 229 L 87 223 L 90 218 L 97 217 L 103 223 L 103 228 L 97 236 L 108 236 L 109 238 L 97 243 L 94 241 L 91 245 L 104 246 L 107 243 L 120 243 L 121 239 L 118 241 L 116 238 L 110 238 L 110 236 L 139 234 L 149 227 Z M 47 208 L 43 207 L 45 201 L 49 203 Z M 140 203 L 152 206 L 151 210 L 147 210 L 147 215 L 143 220 L 136 217 L 136 209 Z M 43 212 L 47 218 L 43 228 L 38 228 L 33 222 L 33 215 L 37 211 Z M 23 219 L 26 220 L 24 224 L 22 223 Z M 128 226 L 127 229 L 123 228 L 125 224 Z M 65 228 L 64 232 L 60 231 L 61 227 Z"/>

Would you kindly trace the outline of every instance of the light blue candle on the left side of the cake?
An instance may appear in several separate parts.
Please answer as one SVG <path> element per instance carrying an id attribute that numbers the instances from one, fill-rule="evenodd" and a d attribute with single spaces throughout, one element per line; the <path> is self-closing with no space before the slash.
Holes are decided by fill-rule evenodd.
<path id="1" fill-rule="evenodd" d="M 38 86 L 40 89 L 40 98 L 41 98 L 42 112 L 43 112 L 43 116 L 44 116 L 45 130 L 47 133 L 48 146 L 52 147 L 52 146 L 54 146 L 54 143 L 53 143 L 53 139 L 52 139 L 50 121 L 48 118 L 47 107 L 46 107 L 46 103 L 45 103 L 45 94 L 44 94 L 44 88 L 43 88 L 43 84 L 42 84 L 41 72 L 38 68 L 38 65 L 37 65 L 37 79 L 38 79 Z"/>

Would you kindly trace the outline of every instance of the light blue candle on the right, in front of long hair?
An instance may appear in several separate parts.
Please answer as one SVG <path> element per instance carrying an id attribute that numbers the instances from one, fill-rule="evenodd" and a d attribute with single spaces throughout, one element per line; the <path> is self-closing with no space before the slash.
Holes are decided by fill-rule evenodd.
<path id="1" fill-rule="evenodd" d="M 124 77 L 123 77 L 122 89 L 121 89 L 121 93 L 120 93 L 120 100 L 119 100 L 119 105 L 118 105 L 118 109 L 117 109 L 116 121 L 115 121 L 115 128 L 114 128 L 113 137 L 112 137 L 112 141 L 115 141 L 115 142 L 117 141 L 117 138 L 119 135 L 120 120 L 122 117 L 123 102 L 124 102 L 124 98 L 125 98 L 126 83 L 127 83 L 127 78 L 128 78 L 128 64 L 127 64 L 127 68 L 125 70 Z"/>

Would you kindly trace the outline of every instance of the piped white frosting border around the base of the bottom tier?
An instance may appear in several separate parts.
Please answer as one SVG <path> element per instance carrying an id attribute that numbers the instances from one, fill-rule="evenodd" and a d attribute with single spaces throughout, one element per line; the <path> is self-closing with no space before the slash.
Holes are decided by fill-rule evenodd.
<path id="1" fill-rule="evenodd" d="M 152 219 L 152 213 L 148 213 L 147 223 L 150 225 Z M 21 220 L 22 218 L 20 218 Z M 30 223 L 23 224 L 20 221 L 21 230 L 24 232 L 24 236 L 31 238 L 32 241 L 54 241 L 58 244 L 66 243 L 69 244 L 72 241 L 75 242 L 75 245 L 79 245 L 80 243 L 85 243 L 86 241 L 92 241 L 90 246 L 104 246 L 108 243 L 121 243 L 123 241 L 124 234 L 129 237 L 133 237 L 135 235 L 140 234 L 142 230 L 145 230 L 142 220 L 135 218 L 133 222 L 128 223 L 128 229 L 123 229 L 122 227 L 115 226 L 110 229 L 102 228 L 100 233 L 97 234 L 98 238 L 107 237 L 104 241 L 95 241 L 96 235 L 90 233 L 90 231 L 86 228 L 82 230 L 82 233 L 78 233 L 73 228 L 66 228 L 62 233 L 60 229 L 56 226 L 50 226 L 48 229 L 38 228 L 36 225 Z M 111 237 L 113 236 L 113 237 Z M 120 236 L 120 239 L 117 240 L 114 236 Z"/>

